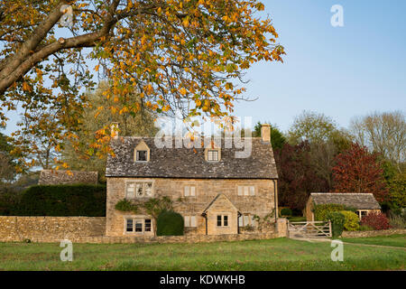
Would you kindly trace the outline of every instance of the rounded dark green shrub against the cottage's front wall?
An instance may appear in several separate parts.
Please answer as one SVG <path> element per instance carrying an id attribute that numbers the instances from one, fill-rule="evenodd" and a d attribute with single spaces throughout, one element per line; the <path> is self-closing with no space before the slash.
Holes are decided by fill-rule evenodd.
<path id="1" fill-rule="evenodd" d="M 157 236 L 181 236 L 183 235 L 184 220 L 179 213 L 173 210 L 164 210 L 158 216 L 156 226 Z"/>

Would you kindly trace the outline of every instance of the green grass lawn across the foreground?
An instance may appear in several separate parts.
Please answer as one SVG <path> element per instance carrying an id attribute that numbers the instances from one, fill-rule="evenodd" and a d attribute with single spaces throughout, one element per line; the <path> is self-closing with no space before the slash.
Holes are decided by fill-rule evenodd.
<path id="1" fill-rule="evenodd" d="M 383 238 L 404 247 L 405 235 Z M 351 241 L 346 239 L 347 242 Z M 0 243 L 0 270 L 404 270 L 406 250 L 344 246 L 330 259 L 329 242 L 287 238 L 202 244 L 73 244 L 61 262 L 59 244 Z"/>

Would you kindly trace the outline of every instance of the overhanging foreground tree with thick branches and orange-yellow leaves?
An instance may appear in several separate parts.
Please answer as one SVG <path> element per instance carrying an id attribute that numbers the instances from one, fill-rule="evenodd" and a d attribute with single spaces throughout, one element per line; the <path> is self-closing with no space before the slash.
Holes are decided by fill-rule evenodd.
<path id="1" fill-rule="evenodd" d="M 49 106 L 65 104 L 65 129 L 55 137 L 76 137 L 71 111 L 94 85 L 90 59 L 111 80 L 106 98 L 136 91 L 141 105 L 157 113 L 225 117 L 245 98 L 245 70 L 281 61 L 284 53 L 271 19 L 256 16 L 263 8 L 256 0 L 2 1 L 2 108 L 53 96 Z M 105 108 L 137 113 L 142 106 L 129 100 L 121 109 Z M 4 111 L 0 117 L 6 122 Z M 99 130 L 93 149 L 105 150 L 108 129 Z"/>

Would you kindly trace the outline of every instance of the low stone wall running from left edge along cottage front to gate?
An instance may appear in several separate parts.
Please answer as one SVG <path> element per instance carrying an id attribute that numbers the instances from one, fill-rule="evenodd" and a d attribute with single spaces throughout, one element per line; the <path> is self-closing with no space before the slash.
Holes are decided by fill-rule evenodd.
<path id="1" fill-rule="evenodd" d="M 244 234 L 187 234 L 170 237 L 108 237 L 105 217 L 15 217 L 0 216 L 0 242 L 74 243 L 201 243 L 241 241 L 286 237 L 286 219 L 279 219 L 274 228 Z"/>

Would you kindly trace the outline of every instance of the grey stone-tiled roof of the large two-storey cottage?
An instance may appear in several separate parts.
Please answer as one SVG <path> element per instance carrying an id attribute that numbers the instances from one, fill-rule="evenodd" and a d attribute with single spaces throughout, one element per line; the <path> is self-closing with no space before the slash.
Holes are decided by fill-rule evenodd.
<path id="1" fill-rule="evenodd" d="M 151 150 L 148 163 L 134 162 L 134 148 L 141 142 Z M 173 144 L 174 139 L 172 139 Z M 223 140 L 224 144 L 224 140 Z M 112 141 L 115 156 L 108 156 L 106 177 L 165 177 L 189 179 L 276 179 L 272 145 L 252 138 L 252 154 L 235 158 L 243 149 L 221 147 L 221 160 L 208 163 L 204 148 L 157 148 L 151 137 L 119 137 Z M 173 145 L 174 147 L 175 145 Z"/>

